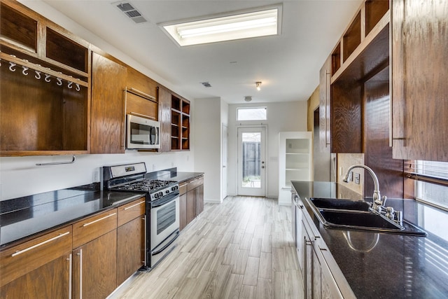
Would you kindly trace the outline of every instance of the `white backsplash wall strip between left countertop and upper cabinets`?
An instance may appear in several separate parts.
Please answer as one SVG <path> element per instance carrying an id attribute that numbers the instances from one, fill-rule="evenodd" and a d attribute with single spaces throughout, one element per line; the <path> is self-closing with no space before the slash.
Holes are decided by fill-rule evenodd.
<path id="1" fill-rule="evenodd" d="M 99 181 L 99 167 L 127 162 L 146 162 L 148 172 L 178 167 L 193 171 L 191 152 L 77 155 L 66 165 L 36 166 L 36 163 L 70 161 L 71 155 L 0 158 L 0 200 L 70 188 Z"/>

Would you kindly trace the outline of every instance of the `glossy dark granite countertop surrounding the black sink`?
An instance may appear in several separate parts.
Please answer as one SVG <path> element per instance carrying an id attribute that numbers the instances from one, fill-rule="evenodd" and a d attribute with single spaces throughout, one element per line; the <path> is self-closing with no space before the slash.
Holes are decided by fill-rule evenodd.
<path id="1" fill-rule="evenodd" d="M 426 219 L 447 223 L 446 212 L 415 200 L 391 200 L 402 207 L 405 220 L 428 232 L 427 237 L 328 229 L 305 197 L 359 200 L 362 196 L 330 182 L 293 181 L 293 188 L 357 298 L 448 298 L 447 233 Z"/>

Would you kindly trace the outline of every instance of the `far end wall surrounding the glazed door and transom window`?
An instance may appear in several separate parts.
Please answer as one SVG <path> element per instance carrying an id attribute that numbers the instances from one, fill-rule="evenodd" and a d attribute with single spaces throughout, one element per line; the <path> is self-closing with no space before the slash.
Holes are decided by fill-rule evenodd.
<path id="1" fill-rule="evenodd" d="M 229 165 L 228 194 L 237 195 L 237 108 L 244 106 L 267 107 L 267 121 L 252 125 L 267 125 L 266 183 L 267 197 L 279 194 L 279 132 L 307 130 L 307 102 L 261 104 L 232 104 L 229 106 Z"/>

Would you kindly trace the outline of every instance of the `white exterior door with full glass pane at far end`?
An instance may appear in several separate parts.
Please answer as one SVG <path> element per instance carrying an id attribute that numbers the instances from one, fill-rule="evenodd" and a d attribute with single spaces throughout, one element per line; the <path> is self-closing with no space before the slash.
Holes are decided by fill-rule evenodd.
<path id="1" fill-rule="evenodd" d="M 238 195 L 265 196 L 265 127 L 238 128 Z"/>

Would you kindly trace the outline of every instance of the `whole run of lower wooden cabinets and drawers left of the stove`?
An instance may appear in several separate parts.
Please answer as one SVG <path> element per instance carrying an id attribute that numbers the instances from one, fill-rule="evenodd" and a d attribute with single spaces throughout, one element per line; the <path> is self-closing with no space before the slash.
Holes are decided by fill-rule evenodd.
<path id="1" fill-rule="evenodd" d="M 0 251 L 0 298 L 106 298 L 144 265 L 146 197 Z"/>

